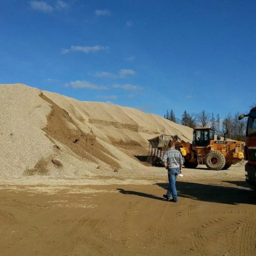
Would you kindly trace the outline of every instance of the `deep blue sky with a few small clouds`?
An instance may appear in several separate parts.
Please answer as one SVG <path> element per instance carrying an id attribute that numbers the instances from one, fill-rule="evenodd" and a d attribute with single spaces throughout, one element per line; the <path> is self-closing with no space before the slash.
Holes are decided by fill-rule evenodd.
<path id="1" fill-rule="evenodd" d="M 256 101 L 256 1 L 0 3 L 0 83 L 161 116 Z"/>

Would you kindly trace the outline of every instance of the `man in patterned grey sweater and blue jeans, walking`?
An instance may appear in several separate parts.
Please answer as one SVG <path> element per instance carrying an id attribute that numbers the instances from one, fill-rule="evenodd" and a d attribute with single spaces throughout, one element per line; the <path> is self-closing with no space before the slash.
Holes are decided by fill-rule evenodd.
<path id="1" fill-rule="evenodd" d="M 169 187 L 167 194 L 163 195 L 163 197 L 166 198 L 167 201 L 177 203 L 178 195 L 175 182 L 177 176 L 182 172 L 183 159 L 181 152 L 175 149 L 175 142 L 170 140 L 168 146 L 170 148 L 164 152 L 162 163 L 165 169 L 168 170 Z M 173 197 L 172 199 L 171 196 Z"/>

